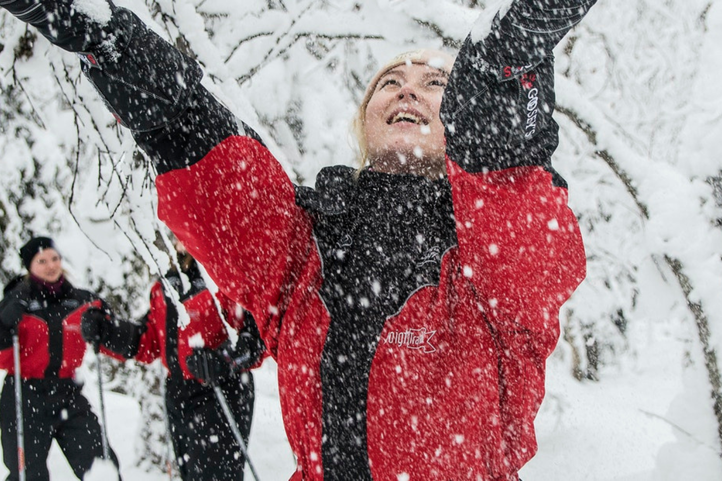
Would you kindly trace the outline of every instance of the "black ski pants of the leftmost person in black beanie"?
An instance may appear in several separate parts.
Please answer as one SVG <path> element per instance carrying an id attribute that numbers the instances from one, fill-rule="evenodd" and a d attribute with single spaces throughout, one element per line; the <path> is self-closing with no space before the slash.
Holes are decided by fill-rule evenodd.
<path id="1" fill-rule="evenodd" d="M 72 379 L 25 379 L 22 381 L 22 415 L 25 431 L 25 474 L 27 481 L 48 481 L 46 459 L 53 439 L 78 479 L 83 478 L 95 458 L 103 457 L 100 424 Z M 15 382 L 6 376 L 0 395 L 0 434 L 6 481 L 17 481 L 17 429 Z M 116 466 L 118 458 L 111 450 Z M 110 481 L 110 480 L 109 480 Z"/>

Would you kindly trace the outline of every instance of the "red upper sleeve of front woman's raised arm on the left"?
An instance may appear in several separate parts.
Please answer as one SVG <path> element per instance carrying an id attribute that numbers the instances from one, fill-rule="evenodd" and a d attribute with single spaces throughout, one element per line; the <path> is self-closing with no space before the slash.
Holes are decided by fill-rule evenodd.
<path id="1" fill-rule="evenodd" d="M 232 136 L 188 169 L 157 177 L 158 216 L 219 289 L 248 309 L 275 350 L 280 320 L 313 249 L 295 188 L 258 141 Z"/>

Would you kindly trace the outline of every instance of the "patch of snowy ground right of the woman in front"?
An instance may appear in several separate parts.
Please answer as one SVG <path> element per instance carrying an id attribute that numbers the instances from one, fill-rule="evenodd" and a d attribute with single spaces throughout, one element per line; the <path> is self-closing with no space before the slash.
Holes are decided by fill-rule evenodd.
<path id="1" fill-rule="evenodd" d="M 707 398 L 693 399 L 684 407 L 689 415 L 677 419 L 674 406 L 688 388 L 684 379 L 705 382 L 700 363 L 684 368 L 687 345 L 683 339 L 688 338 L 688 328 L 664 322 L 630 332 L 632 345 L 638 345 L 636 355 L 601 371 L 598 383 L 580 384 L 561 370 L 560 362 L 552 360 L 547 374 L 547 397 L 536 420 L 539 451 L 524 467 L 522 479 L 722 480 L 722 463 L 714 454 L 718 448 L 708 450 L 712 463 L 697 477 L 671 476 L 664 471 L 664 459 L 660 459 L 667 449 L 671 449 L 671 457 L 676 457 L 682 449 L 677 445 L 677 435 L 694 431 L 695 418 L 701 412 L 711 412 Z M 557 347 L 554 356 L 560 353 Z M 709 414 L 705 418 L 712 420 Z M 695 438 L 706 435 L 708 444 L 713 445 L 713 429 L 710 426 L 709 431 L 695 433 Z M 687 461 L 698 466 L 703 459 L 700 456 Z M 696 468 L 690 466 L 682 471 L 689 473 L 691 469 Z"/>

